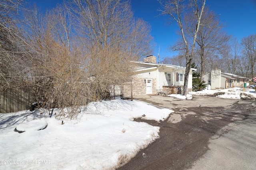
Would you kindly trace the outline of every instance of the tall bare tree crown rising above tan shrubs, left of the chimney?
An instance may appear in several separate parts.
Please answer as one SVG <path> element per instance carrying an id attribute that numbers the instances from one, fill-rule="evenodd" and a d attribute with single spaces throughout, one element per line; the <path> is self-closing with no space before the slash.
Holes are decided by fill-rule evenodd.
<path id="1" fill-rule="evenodd" d="M 134 19 L 130 1 L 70 0 L 66 8 L 75 18 L 84 47 L 118 47 L 134 59 L 152 53 L 150 25 Z"/>

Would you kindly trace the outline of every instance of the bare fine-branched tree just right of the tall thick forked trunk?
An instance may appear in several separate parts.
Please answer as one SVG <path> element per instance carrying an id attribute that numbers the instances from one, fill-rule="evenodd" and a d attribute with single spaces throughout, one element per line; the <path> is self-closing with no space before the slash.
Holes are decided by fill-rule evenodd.
<path id="1" fill-rule="evenodd" d="M 186 29 L 191 35 L 196 29 L 193 24 L 196 20 L 196 16 L 186 16 Z M 224 26 L 218 20 L 217 15 L 208 8 L 204 9 L 200 24 L 196 39 L 196 44 L 198 45 L 196 51 L 200 57 L 200 79 L 202 81 L 202 75 L 208 65 L 207 61 L 209 61 L 210 57 L 220 54 L 223 49 L 226 49 L 231 37 L 222 31 Z"/>

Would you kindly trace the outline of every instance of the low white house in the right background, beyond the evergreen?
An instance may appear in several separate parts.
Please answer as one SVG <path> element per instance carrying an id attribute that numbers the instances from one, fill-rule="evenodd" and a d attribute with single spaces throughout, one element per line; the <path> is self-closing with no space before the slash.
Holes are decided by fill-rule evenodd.
<path id="1" fill-rule="evenodd" d="M 221 72 L 221 70 L 218 69 L 212 70 L 211 72 L 204 74 L 202 77 L 206 84 L 211 85 L 211 89 L 244 87 L 244 83 L 248 81 L 248 78 L 246 77 Z"/>

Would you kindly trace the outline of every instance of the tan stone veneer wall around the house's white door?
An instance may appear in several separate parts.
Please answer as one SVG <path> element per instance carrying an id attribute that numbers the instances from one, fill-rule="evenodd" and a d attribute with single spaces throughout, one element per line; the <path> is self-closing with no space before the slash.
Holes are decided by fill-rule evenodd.
<path id="1" fill-rule="evenodd" d="M 157 94 L 156 78 L 136 77 L 133 79 L 132 96 L 146 95 L 146 79 L 152 79 L 152 94 Z"/>

